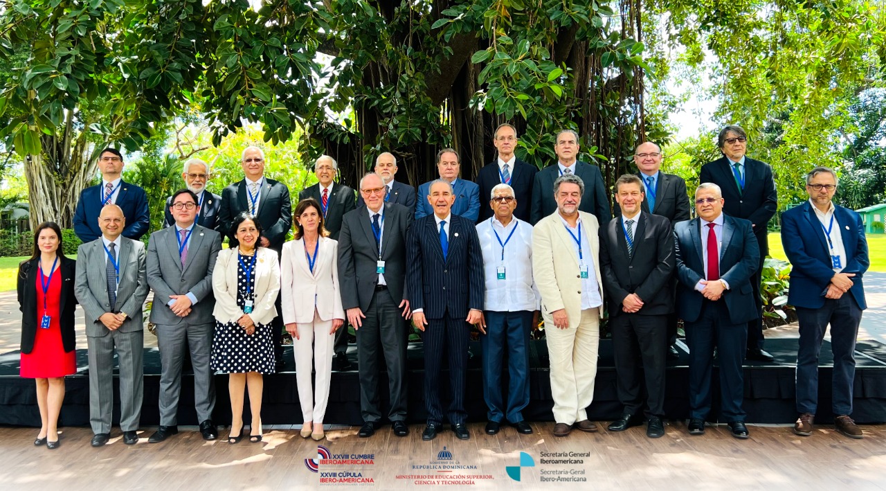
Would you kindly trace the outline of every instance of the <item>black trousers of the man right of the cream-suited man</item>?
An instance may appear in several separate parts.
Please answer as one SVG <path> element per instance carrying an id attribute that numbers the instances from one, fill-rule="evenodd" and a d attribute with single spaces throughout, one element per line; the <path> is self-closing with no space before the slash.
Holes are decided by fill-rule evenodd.
<path id="1" fill-rule="evenodd" d="M 610 317 L 618 401 L 625 406 L 624 414 L 640 412 L 645 386 L 646 417 L 664 417 L 667 320 L 666 314 L 643 316 L 622 312 Z"/>

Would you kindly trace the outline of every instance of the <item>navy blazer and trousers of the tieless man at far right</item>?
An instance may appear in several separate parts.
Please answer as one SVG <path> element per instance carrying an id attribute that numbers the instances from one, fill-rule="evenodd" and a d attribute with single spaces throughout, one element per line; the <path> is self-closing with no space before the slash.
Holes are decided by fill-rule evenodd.
<path id="1" fill-rule="evenodd" d="M 855 339 L 861 311 L 867 308 L 861 277 L 870 266 L 865 227 L 859 214 L 834 207 L 834 227 L 840 230 L 846 263 L 841 272 L 854 273 L 852 287 L 839 299 L 826 299 L 834 277 L 825 231 L 808 201 L 781 214 L 781 244 L 791 264 L 788 303 L 797 308 L 800 342 L 797 351 L 797 411 L 815 414 L 818 406 L 819 353 L 830 324 L 834 353 L 832 409 L 836 416 L 852 412 L 855 379 Z M 832 232 L 832 238 L 835 234 Z"/>

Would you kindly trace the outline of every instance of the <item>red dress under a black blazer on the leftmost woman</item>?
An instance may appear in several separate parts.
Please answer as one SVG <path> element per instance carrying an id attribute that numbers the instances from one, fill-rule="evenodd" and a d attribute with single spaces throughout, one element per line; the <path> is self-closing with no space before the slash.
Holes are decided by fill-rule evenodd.
<path id="1" fill-rule="evenodd" d="M 58 325 L 58 301 L 61 296 L 61 271 L 56 269 L 50 281 L 49 291 L 46 292 L 46 313 L 52 317 L 50 328 L 40 327 L 43 319 L 43 285 L 40 284 L 40 276 L 37 273 L 35 289 L 37 291 L 37 333 L 34 339 L 34 349 L 29 354 L 21 354 L 22 378 L 54 378 L 65 377 L 77 371 L 77 359 L 75 351 L 65 352 L 61 342 L 61 326 Z M 47 277 L 43 276 L 45 282 Z"/>

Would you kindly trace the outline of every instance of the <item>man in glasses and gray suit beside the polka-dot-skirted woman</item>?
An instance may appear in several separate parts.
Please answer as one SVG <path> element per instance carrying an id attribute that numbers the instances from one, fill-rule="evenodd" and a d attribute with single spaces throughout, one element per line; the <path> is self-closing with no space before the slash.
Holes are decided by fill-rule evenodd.
<path id="1" fill-rule="evenodd" d="M 198 225 L 199 199 L 192 191 L 177 191 L 171 199 L 167 212 L 175 215 L 173 226 L 152 233 L 148 243 L 148 284 L 154 291 L 151 322 L 157 326 L 161 366 L 160 425 L 148 441 L 159 443 L 178 433 L 185 350 L 194 370 L 200 434 L 203 440 L 215 440 L 215 384 L 209 358 L 215 330 L 213 269 L 221 251 L 221 236 Z"/>

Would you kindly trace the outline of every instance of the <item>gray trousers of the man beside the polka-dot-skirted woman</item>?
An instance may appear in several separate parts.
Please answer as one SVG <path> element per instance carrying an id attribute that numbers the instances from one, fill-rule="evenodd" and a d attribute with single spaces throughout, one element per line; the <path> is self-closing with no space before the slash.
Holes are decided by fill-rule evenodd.
<path id="1" fill-rule="evenodd" d="M 215 383 L 209 368 L 213 348 L 214 323 L 188 325 L 157 324 L 157 347 L 160 350 L 160 425 L 178 424 L 178 399 L 182 392 L 182 363 L 185 349 L 190 350 L 190 364 L 194 369 L 194 406 L 197 420 L 203 423 L 213 418 Z"/>

